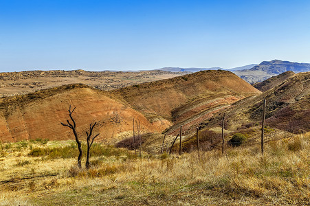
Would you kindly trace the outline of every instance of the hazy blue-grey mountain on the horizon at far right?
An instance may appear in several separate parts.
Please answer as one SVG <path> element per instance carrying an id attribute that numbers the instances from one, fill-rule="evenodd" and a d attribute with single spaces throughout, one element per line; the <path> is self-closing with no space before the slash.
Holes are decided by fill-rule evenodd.
<path id="1" fill-rule="evenodd" d="M 254 66 L 252 69 L 233 72 L 236 73 L 237 76 L 243 78 L 243 80 L 250 84 L 254 84 L 267 80 L 272 76 L 277 76 L 285 71 L 294 71 L 295 73 L 310 71 L 310 64 L 272 60 L 269 62 L 261 62 L 261 64 Z"/>

